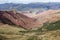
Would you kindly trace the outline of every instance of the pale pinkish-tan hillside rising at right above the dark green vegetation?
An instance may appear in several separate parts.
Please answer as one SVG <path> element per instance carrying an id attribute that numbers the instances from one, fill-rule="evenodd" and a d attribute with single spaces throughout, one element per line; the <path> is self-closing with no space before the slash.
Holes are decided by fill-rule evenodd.
<path id="1" fill-rule="evenodd" d="M 60 10 L 48 10 L 35 16 L 37 23 L 43 25 L 45 22 L 54 22 L 60 20 Z"/>

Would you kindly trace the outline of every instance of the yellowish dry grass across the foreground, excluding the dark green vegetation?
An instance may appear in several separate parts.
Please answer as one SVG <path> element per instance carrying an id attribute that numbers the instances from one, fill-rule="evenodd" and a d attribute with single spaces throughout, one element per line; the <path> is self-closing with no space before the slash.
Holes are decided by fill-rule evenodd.
<path id="1" fill-rule="evenodd" d="M 10 25 L 0 26 L 0 40 L 60 40 L 60 30 L 40 32 L 30 31 L 21 35 L 25 31 Z M 37 34 L 39 33 L 39 35 Z"/>

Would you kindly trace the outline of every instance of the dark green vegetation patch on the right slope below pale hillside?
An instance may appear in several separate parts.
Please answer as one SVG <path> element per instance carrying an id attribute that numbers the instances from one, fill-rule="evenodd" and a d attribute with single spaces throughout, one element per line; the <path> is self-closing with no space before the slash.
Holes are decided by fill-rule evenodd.
<path id="1" fill-rule="evenodd" d="M 48 31 L 58 30 L 58 29 L 60 29 L 60 21 L 56 21 L 53 23 L 46 22 L 40 29 L 47 29 Z"/>

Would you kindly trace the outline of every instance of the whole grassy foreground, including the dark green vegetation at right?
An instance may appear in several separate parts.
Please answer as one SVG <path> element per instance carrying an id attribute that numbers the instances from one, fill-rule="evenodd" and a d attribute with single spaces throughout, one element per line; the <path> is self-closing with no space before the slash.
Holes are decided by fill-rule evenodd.
<path id="1" fill-rule="evenodd" d="M 37 30 L 0 25 L 0 40 L 60 40 L 60 21 L 46 22 Z"/>

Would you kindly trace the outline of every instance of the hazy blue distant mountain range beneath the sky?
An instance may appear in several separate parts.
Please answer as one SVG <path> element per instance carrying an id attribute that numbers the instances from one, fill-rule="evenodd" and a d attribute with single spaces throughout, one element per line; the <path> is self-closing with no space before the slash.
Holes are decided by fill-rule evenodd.
<path id="1" fill-rule="evenodd" d="M 28 9 L 60 9 L 60 3 L 29 3 L 29 4 L 15 4 L 15 3 L 5 3 L 0 4 L 0 10 L 28 10 Z"/>

